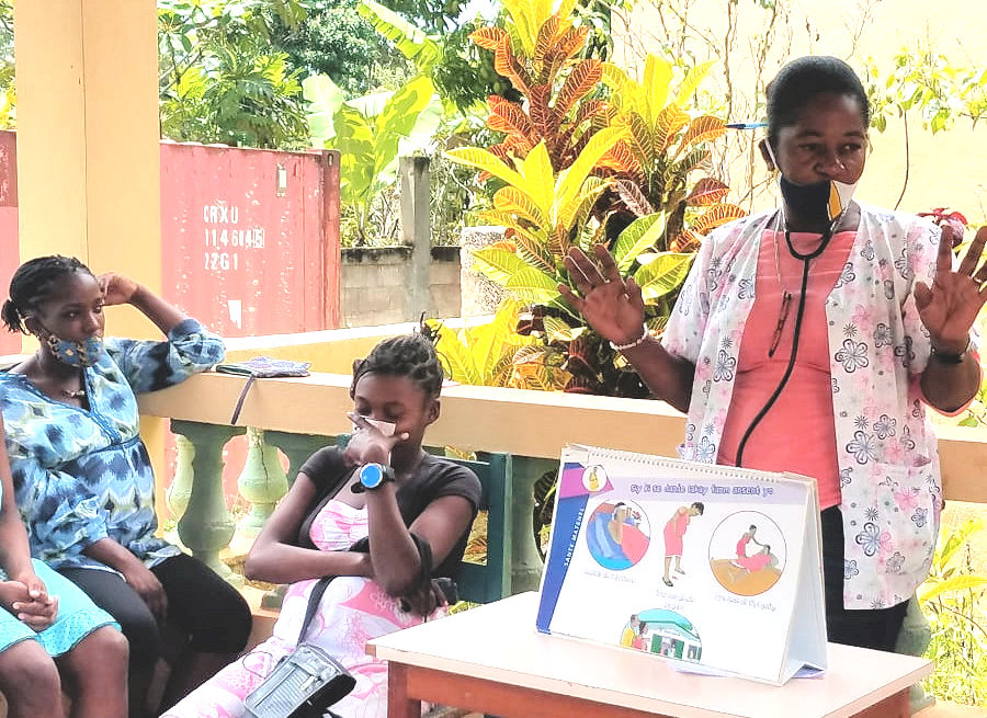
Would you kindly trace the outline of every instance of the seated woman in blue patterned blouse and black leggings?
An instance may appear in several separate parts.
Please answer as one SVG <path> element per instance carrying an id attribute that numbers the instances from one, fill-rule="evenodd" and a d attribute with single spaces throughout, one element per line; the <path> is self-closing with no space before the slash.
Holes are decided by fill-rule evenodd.
<path id="1" fill-rule="evenodd" d="M 104 342 L 103 309 L 129 304 L 167 339 Z M 118 274 L 66 257 L 14 273 L 2 308 L 10 331 L 39 349 L 0 373 L 0 409 L 31 552 L 71 579 L 131 642 L 132 710 L 166 622 L 189 636 L 164 700 L 180 698 L 247 643 L 250 609 L 198 560 L 157 538 L 155 477 L 140 441 L 137 392 L 178 384 L 223 358 L 223 341 Z"/>

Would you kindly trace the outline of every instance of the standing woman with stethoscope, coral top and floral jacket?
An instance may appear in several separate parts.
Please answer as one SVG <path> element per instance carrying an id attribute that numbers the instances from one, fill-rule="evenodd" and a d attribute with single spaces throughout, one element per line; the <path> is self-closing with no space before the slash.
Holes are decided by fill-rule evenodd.
<path id="1" fill-rule="evenodd" d="M 816 477 L 829 639 L 893 650 L 942 505 L 926 407 L 957 412 L 979 386 L 987 228 L 953 271 L 952 228 L 852 201 L 869 124 L 846 62 L 782 68 L 761 144 L 782 205 L 706 238 L 660 343 L 604 248 L 572 250 L 579 294 L 560 290 L 689 413 L 683 458 Z"/>

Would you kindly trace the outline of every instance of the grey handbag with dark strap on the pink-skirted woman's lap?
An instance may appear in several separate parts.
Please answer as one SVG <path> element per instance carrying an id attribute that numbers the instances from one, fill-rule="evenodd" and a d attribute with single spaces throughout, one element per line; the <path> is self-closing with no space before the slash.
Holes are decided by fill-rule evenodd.
<path id="1" fill-rule="evenodd" d="M 328 710 L 329 706 L 339 702 L 356 685 L 356 679 L 339 661 L 318 646 L 303 642 L 305 631 L 308 630 L 332 578 L 321 578 L 313 586 L 295 652 L 281 659 L 243 700 L 247 715 L 251 718 L 334 716 Z"/>

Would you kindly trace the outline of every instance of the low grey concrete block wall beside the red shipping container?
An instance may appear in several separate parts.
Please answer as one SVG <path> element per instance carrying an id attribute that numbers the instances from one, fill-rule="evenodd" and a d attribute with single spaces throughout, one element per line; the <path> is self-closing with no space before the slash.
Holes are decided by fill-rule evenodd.
<path id="1" fill-rule="evenodd" d="M 433 247 L 429 317 L 458 317 L 460 248 Z M 340 267 L 342 327 L 416 321 L 411 309 L 411 248 L 343 249 Z"/>

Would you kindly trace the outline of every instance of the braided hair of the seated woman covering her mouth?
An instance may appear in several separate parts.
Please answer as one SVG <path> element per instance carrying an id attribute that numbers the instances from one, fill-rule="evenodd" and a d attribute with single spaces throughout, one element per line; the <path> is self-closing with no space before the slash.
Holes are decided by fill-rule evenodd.
<path id="1" fill-rule="evenodd" d="M 353 365 L 350 398 L 356 394 L 356 383 L 367 374 L 408 377 L 427 398 L 436 398 L 445 375 L 432 341 L 431 333 L 420 331 L 386 339 L 374 346 L 366 358 Z"/>

